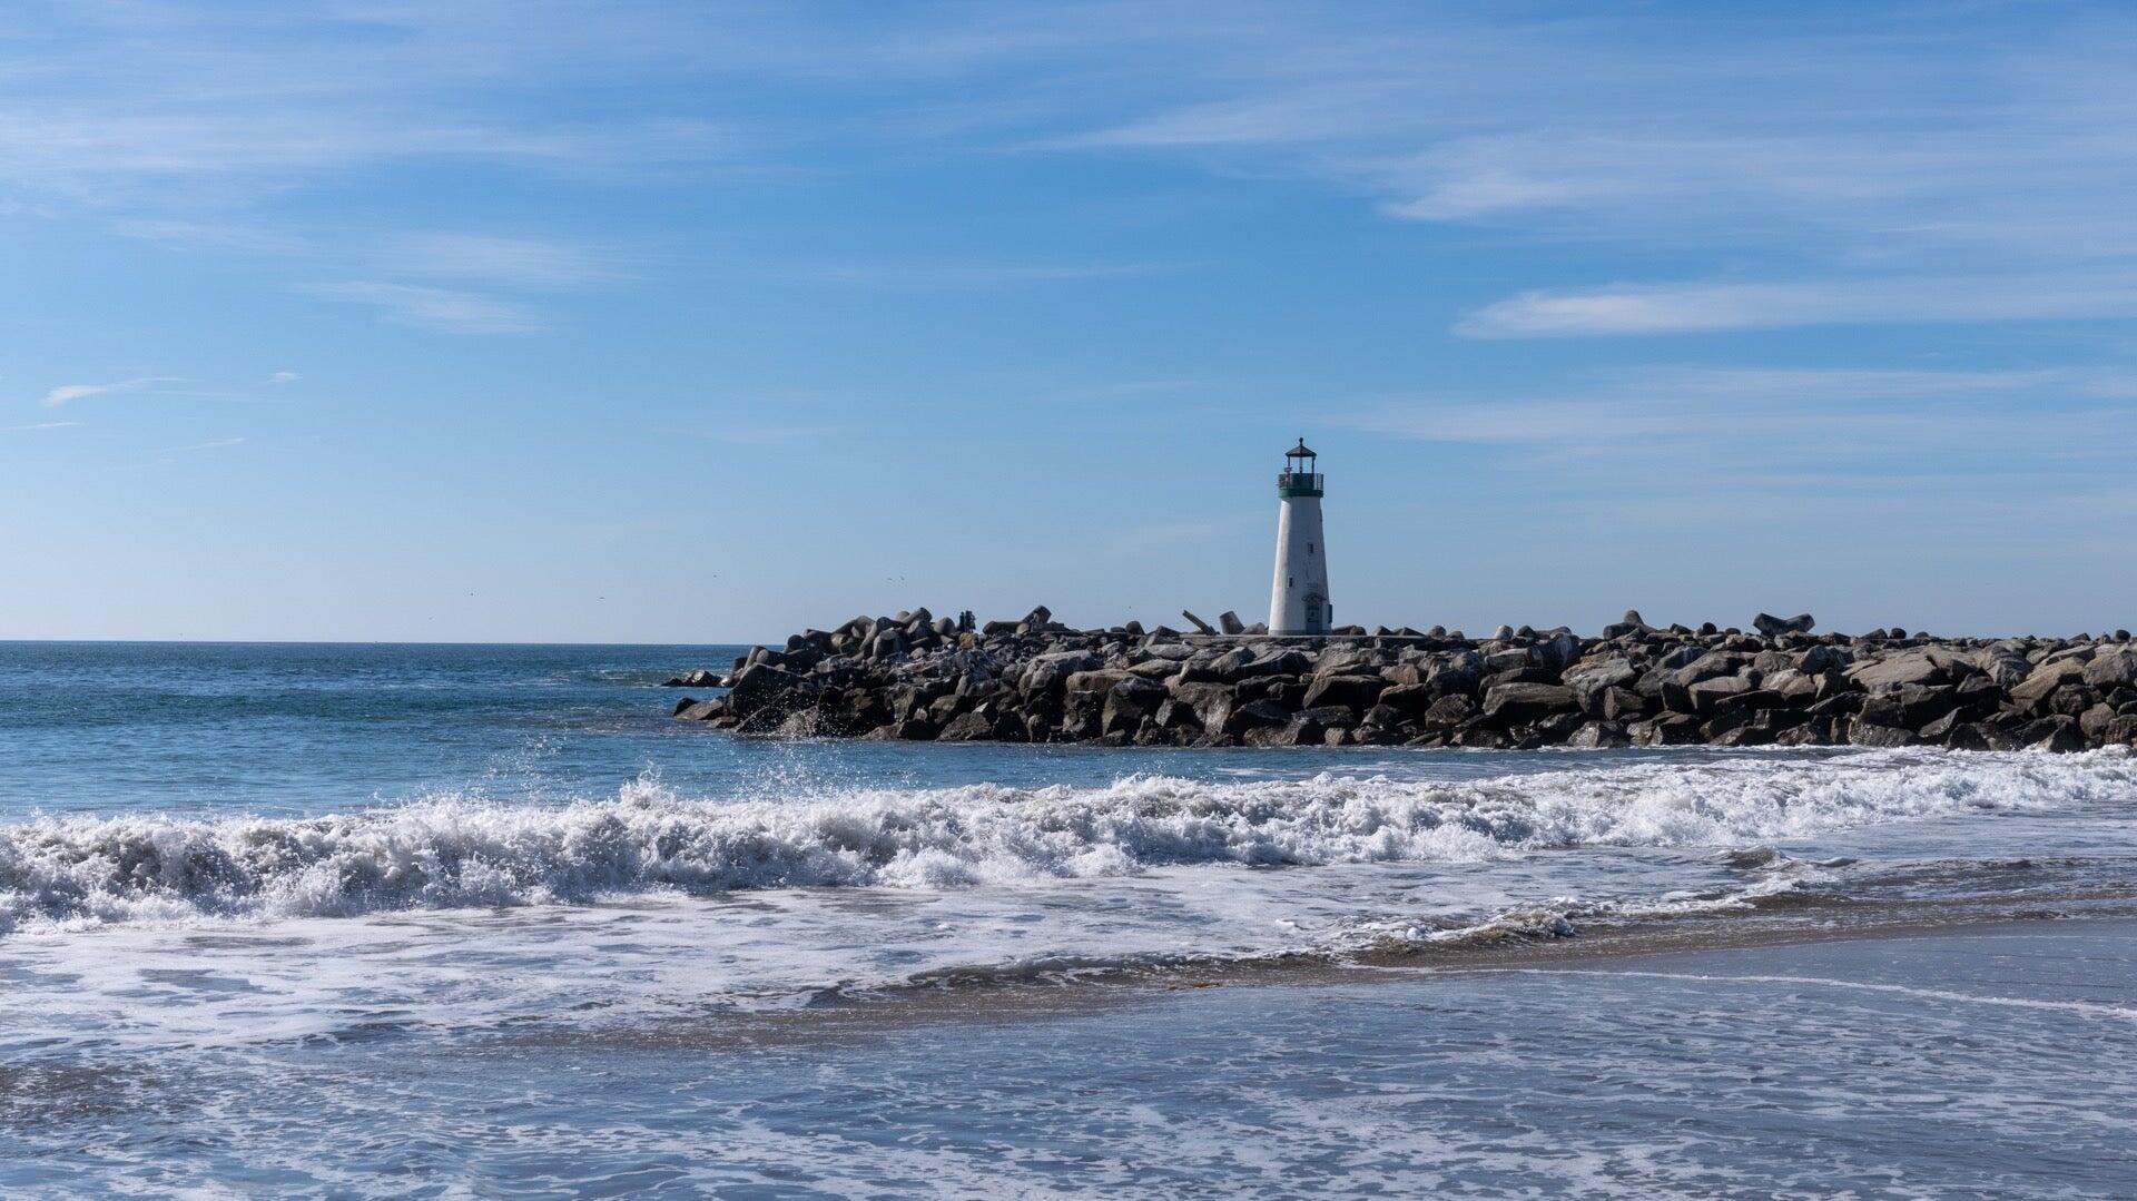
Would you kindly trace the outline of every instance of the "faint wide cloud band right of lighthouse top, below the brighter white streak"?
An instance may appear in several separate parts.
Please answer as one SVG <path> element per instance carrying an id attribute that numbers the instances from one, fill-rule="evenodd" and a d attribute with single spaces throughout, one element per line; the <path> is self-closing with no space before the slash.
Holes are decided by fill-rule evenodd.
<path id="1" fill-rule="evenodd" d="M 1620 372 L 1547 395 L 1366 402 L 1346 425 L 1492 447 L 1500 470 L 1586 496 L 1919 494 L 2026 481 L 2039 498 L 2122 479 L 2137 408 L 2090 370 Z"/>

